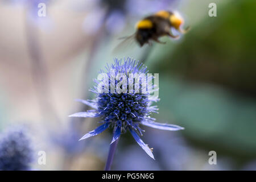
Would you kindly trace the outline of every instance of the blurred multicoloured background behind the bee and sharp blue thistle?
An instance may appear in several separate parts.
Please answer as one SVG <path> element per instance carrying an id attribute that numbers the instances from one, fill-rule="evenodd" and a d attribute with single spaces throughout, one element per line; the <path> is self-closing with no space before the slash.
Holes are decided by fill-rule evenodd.
<path id="1" fill-rule="evenodd" d="M 212 2 L 216 17 L 208 15 Z M 39 3 L 46 16 L 38 16 Z M 161 38 L 166 44 L 113 52 L 118 38 L 158 10 L 177 10 L 191 30 Z M 88 90 L 106 63 L 130 56 L 159 73 L 156 120 L 185 130 L 146 129 L 142 139 L 156 160 L 122 135 L 112 169 L 255 170 L 255 11 L 253 0 L 1 0 L 0 131 L 30 130 L 34 169 L 104 169 L 111 131 L 78 142 L 98 123 L 68 115 L 88 109 L 74 100 L 94 97 Z M 38 151 L 46 152 L 46 165 L 38 164 Z"/>

